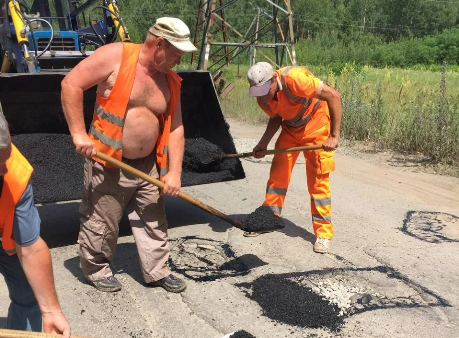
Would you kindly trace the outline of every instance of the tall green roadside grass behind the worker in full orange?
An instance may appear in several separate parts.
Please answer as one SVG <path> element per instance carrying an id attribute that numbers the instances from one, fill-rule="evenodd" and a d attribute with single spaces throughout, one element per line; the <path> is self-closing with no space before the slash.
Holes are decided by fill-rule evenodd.
<path id="1" fill-rule="evenodd" d="M 221 99 L 225 115 L 248 122 L 267 116 L 247 96 L 248 66 L 224 69 L 234 85 Z M 341 137 L 377 144 L 378 149 L 422 154 L 430 163 L 459 163 L 459 73 L 376 69 L 346 64 L 339 74 L 326 67 L 310 70 L 342 95 Z M 238 76 L 239 75 L 239 76 Z"/>

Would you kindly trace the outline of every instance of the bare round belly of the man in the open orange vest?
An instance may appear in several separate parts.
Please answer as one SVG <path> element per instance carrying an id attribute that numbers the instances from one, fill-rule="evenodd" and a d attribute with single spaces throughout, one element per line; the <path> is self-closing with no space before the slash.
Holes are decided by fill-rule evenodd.
<path id="1" fill-rule="evenodd" d="M 147 108 L 132 108 L 123 127 L 123 157 L 139 159 L 150 155 L 159 134 L 158 118 Z"/>

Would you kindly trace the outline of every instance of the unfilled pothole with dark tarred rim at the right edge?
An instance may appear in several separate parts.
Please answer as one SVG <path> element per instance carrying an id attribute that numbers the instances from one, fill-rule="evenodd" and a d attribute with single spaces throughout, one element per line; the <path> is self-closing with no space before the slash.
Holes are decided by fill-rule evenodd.
<path id="1" fill-rule="evenodd" d="M 459 242 L 459 217 L 443 212 L 409 211 L 402 231 L 430 243 Z"/>

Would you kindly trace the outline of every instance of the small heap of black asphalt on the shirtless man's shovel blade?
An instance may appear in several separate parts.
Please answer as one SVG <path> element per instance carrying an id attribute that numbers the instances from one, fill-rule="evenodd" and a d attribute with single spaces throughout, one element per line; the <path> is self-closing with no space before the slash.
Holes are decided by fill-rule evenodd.
<path id="1" fill-rule="evenodd" d="M 263 232 L 278 230 L 284 227 L 282 218 L 276 216 L 267 205 L 261 205 L 252 213 L 242 219 L 242 230 L 251 232 Z"/>

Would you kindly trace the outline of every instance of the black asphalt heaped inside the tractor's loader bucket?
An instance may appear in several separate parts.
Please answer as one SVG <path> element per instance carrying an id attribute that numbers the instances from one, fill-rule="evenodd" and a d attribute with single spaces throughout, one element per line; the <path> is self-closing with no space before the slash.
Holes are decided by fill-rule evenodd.
<path id="1" fill-rule="evenodd" d="M 84 158 L 75 152 L 67 134 L 19 134 L 11 140 L 34 167 L 32 184 L 35 203 L 81 198 Z M 186 139 L 182 186 L 243 178 L 236 159 L 214 161 L 222 149 L 205 139 Z"/>

